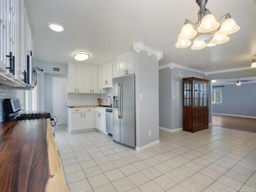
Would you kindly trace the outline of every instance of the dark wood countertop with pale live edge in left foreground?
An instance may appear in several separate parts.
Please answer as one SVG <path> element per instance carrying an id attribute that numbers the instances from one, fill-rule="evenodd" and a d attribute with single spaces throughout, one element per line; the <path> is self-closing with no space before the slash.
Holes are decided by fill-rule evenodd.
<path id="1" fill-rule="evenodd" d="M 67 192 L 50 119 L 0 122 L 0 191 Z"/>

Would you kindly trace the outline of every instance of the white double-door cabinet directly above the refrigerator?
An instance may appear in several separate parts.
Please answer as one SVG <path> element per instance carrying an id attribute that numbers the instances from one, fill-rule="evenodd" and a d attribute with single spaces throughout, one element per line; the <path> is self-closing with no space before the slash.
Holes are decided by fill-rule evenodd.
<path id="1" fill-rule="evenodd" d="M 116 57 L 118 76 L 135 74 L 135 52 L 130 51 Z"/>

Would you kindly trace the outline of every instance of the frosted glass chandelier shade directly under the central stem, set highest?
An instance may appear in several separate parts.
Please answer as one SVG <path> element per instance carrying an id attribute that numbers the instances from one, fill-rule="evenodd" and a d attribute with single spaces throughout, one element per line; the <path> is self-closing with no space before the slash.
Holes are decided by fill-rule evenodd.
<path id="1" fill-rule="evenodd" d="M 203 17 L 200 26 L 198 27 L 198 32 L 210 32 L 217 29 L 220 26 L 220 23 L 216 21 L 215 17 L 212 14 L 208 14 Z"/>

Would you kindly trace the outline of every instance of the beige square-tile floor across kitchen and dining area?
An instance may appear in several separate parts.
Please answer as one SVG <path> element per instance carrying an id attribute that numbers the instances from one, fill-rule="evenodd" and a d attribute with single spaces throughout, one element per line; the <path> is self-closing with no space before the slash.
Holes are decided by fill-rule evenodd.
<path id="1" fill-rule="evenodd" d="M 256 133 L 210 126 L 195 133 L 159 131 L 142 152 L 97 131 L 56 141 L 70 192 L 256 191 Z"/>

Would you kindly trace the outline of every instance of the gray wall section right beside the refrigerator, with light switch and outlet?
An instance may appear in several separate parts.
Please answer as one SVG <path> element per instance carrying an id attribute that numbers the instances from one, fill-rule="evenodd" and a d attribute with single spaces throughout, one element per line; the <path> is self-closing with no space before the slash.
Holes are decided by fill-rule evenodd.
<path id="1" fill-rule="evenodd" d="M 136 146 L 142 147 L 159 140 L 158 59 L 142 50 L 135 60 Z"/>

